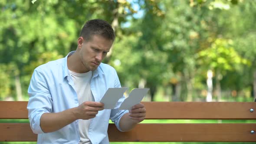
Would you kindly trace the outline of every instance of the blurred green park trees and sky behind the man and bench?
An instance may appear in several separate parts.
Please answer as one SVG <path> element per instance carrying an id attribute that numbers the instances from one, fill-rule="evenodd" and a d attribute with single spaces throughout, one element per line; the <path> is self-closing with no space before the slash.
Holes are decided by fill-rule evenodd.
<path id="1" fill-rule="evenodd" d="M 116 33 L 104 62 L 122 87 L 150 88 L 143 101 L 256 98 L 256 0 L 0 0 L 0 100 L 27 101 L 33 70 L 75 50 L 96 18 Z"/>

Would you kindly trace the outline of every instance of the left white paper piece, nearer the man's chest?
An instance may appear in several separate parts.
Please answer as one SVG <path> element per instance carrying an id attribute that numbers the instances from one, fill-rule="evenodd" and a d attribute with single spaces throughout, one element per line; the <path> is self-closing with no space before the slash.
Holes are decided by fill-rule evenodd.
<path id="1" fill-rule="evenodd" d="M 113 109 L 117 101 L 124 95 L 128 88 L 108 88 L 101 101 L 104 103 L 104 109 Z"/>

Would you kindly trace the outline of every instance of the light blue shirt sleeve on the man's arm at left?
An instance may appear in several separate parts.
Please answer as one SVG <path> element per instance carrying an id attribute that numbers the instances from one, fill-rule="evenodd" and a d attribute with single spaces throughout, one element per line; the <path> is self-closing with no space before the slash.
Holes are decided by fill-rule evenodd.
<path id="1" fill-rule="evenodd" d="M 43 113 L 52 112 L 53 100 L 49 91 L 46 77 L 39 69 L 35 69 L 28 88 L 30 96 L 27 110 L 30 127 L 35 134 L 44 133 L 40 127 L 40 118 Z"/>

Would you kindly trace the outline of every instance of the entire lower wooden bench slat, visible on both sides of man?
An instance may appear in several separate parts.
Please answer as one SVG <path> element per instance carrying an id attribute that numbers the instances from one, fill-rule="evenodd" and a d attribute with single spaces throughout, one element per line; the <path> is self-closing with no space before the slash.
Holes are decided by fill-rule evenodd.
<path id="1" fill-rule="evenodd" d="M 243 141 L 255 142 L 256 124 L 138 124 L 120 132 L 110 124 L 110 141 Z M 30 125 L 0 123 L 0 141 L 36 141 Z"/>

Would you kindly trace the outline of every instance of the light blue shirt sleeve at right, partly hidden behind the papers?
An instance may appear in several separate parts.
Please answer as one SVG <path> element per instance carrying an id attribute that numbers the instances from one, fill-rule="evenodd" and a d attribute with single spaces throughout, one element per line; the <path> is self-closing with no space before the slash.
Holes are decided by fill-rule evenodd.
<path id="1" fill-rule="evenodd" d="M 121 88 L 121 84 L 116 72 L 115 72 L 115 88 Z M 117 104 L 115 105 L 115 108 L 111 110 L 111 114 L 110 114 L 111 121 L 115 123 L 115 126 L 116 128 L 118 128 L 119 131 L 122 131 L 121 128 L 119 127 L 119 122 L 121 120 L 121 117 L 129 112 L 128 110 L 118 109 L 124 100 L 125 100 L 125 95 L 123 95 L 123 97 L 118 100 Z"/>

